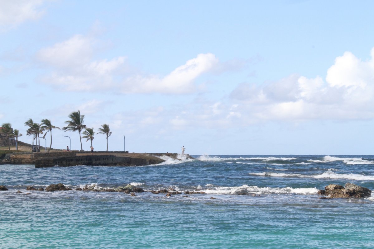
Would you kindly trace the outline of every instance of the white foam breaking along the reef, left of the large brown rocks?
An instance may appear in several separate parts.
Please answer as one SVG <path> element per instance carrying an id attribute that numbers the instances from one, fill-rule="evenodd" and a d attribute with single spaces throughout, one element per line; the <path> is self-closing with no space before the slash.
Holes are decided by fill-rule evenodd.
<path id="1" fill-rule="evenodd" d="M 215 187 L 212 189 L 202 190 L 207 194 L 316 194 L 318 189 L 316 188 L 297 188 L 292 187 L 285 188 L 272 188 L 272 187 L 257 187 L 242 185 L 239 187 Z"/>

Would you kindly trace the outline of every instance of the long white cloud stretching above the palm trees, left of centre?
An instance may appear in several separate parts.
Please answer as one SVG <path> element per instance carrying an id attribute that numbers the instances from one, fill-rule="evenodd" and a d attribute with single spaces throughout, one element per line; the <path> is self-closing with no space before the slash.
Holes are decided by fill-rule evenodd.
<path id="1" fill-rule="evenodd" d="M 129 70 L 126 57 L 93 60 L 94 51 L 95 40 L 83 35 L 40 49 L 37 60 L 53 70 L 41 81 L 65 91 L 185 94 L 199 89 L 196 80 L 200 75 L 222 68 L 214 54 L 205 53 L 165 76 L 139 74 Z"/>

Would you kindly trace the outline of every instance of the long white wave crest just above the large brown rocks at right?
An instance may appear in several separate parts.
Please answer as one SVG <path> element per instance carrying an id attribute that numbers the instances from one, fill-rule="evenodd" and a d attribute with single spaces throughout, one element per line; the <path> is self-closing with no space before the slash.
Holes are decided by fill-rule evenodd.
<path id="1" fill-rule="evenodd" d="M 332 171 L 327 171 L 319 175 L 302 175 L 302 174 L 286 174 L 286 173 L 275 173 L 275 172 L 261 172 L 261 173 L 249 173 L 250 175 L 269 176 L 269 177 L 300 177 L 300 178 L 330 178 L 330 179 L 348 179 L 348 180 L 374 180 L 374 176 L 370 175 L 358 175 L 358 174 L 337 174 Z"/>

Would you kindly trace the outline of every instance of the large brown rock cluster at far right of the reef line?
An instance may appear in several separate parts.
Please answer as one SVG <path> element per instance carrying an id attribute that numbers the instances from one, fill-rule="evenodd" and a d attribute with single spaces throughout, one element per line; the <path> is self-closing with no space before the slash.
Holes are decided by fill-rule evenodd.
<path id="1" fill-rule="evenodd" d="M 319 190 L 317 194 L 327 195 L 328 198 L 362 198 L 371 196 L 371 190 L 352 183 L 346 183 L 344 187 L 330 184 L 325 187 L 325 190 Z"/>

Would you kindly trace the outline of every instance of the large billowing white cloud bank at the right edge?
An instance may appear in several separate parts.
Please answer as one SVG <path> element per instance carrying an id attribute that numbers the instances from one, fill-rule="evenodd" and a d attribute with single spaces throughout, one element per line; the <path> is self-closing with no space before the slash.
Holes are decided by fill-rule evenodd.
<path id="1" fill-rule="evenodd" d="M 247 121 L 374 118 L 374 48 L 366 61 L 350 52 L 337 57 L 325 81 L 290 75 L 262 85 L 240 84 L 230 99 Z"/>

